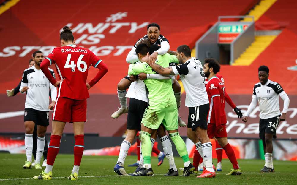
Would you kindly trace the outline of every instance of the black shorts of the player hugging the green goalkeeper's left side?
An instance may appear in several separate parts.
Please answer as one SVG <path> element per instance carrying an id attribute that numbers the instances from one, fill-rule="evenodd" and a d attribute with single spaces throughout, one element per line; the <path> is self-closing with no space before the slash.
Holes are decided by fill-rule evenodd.
<path id="1" fill-rule="evenodd" d="M 147 102 L 130 98 L 127 116 L 127 129 L 140 130 L 141 120 L 146 107 Z"/>

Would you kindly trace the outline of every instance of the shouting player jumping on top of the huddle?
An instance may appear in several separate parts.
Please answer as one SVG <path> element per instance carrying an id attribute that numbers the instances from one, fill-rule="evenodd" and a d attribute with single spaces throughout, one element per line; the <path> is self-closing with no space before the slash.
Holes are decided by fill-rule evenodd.
<path id="1" fill-rule="evenodd" d="M 140 38 L 135 43 L 131 51 L 129 52 L 126 58 L 127 63 L 131 64 L 138 61 L 137 53 L 135 52 L 135 50 L 140 40 L 143 40 L 143 39 L 149 39 L 151 41 L 151 44 L 157 44 L 161 46 L 161 48 L 159 48 L 157 51 L 154 51 L 154 53 L 149 56 L 150 62 L 154 62 L 157 59 L 157 55 L 164 55 L 165 53 L 167 53 L 167 51 L 170 48 L 168 40 L 163 35 L 160 34 L 160 26 L 156 23 L 151 23 L 147 26 L 147 35 Z M 129 76 L 124 77 L 119 82 L 117 86 L 117 92 L 118 92 L 118 97 L 119 97 L 121 107 L 119 108 L 118 111 L 114 112 L 111 115 L 112 118 L 118 118 L 119 116 L 121 116 L 121 114 L 128 112 L 127 99 L 125 96 L 130 84 L 131 84 L 131 81 L 129 80 Z M 177 81 L 175 81 L 172 88 L 173 88 L 174 96 L 176 98 L 176 103 L 177 103 L 178 112 L 179 112 L 179 108 L 181 105 L 181 86 Z M 182 127 L 186 126 L 184 121 L 181 120 L 181 117 L 178 117 L 178 125 Z"/>

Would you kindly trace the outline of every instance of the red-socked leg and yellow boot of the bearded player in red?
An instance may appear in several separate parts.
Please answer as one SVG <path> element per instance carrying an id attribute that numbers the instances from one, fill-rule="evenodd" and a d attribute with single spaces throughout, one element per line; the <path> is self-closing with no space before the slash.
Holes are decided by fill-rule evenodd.
<path id="1" fill-rule="evenodd" d="M 224 130 L 226 130 L 225 129 L 226 127 L 223 126 L 223 128 L 224 128 Z M 221 131 L 221 132 L 224 132 L 224 130 Z M 227 173 L 226 175 L 241 175 L 241 168 L 238 165 L 238 162 L 237 162 L 237 159 L 236 159 L 233 148 L 228 143 L 227 137 L 219 137 L 219 136 L 216 135 L 216 138 L 218 140 L 219 145 L 221 145 L 223 150 L 225 150 L 228 159 L 230 160 L 230 162 L 233 165 L 233 169 L 231 170 L 231 172 Z"/>

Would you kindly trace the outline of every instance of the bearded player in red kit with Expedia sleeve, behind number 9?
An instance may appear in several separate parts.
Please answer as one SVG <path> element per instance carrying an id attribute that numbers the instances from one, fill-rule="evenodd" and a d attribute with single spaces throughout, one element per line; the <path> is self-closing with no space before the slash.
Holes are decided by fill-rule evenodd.
<path id="1" fill-rule="evenodd" d="M 215 59 L 205 59 L 204 74 L 208 79 L 206 92 L 209 99 L 207 134 L 209 138 L 216 137 L 219 145 L 225 150 L 226 155 L 233 165 L 233 169 L 227 175 L 241 175 L 241 168 L 237 163 L 234 150 L 227 140 L 226 113 L 225 113 L 225 87 L 223 82 L 217 78 L 221 66 Z"/>

